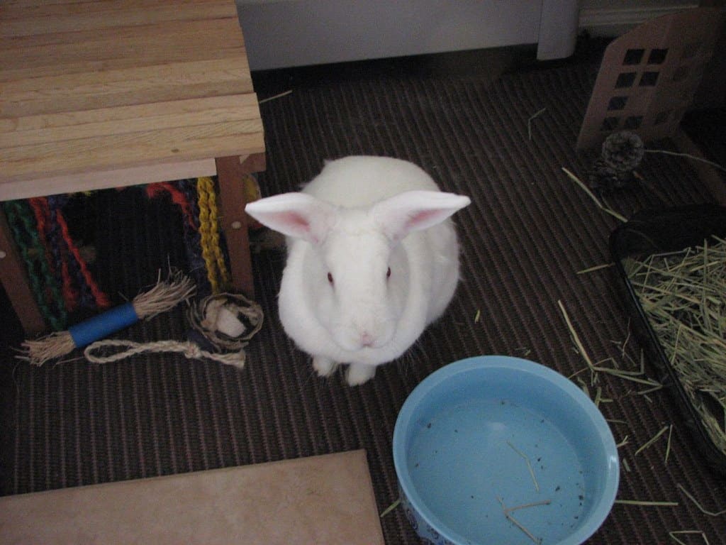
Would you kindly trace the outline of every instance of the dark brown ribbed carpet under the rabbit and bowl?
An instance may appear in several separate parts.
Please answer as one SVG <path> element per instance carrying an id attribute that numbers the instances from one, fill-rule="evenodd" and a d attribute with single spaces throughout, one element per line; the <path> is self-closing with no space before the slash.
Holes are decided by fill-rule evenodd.
<path id="1" fill-rule="evenodd" d="M 463 279 L 449 312 L 407 357 L 356 388 L 340 376 L 314 376 L 283 334 L 275 307 L 280 249 L 254 256 L 266 325 L 248 347 L 243 371 L 173 355 L 95 368 L 83 360 L 30 368 L 12 359 L 19 337 L 4 315 L 1 492 L 365 448 L 383 511 L 398 496 L 391 457 L 396 415 L 436 368 L 470 355 L 508 354 L 574 374 L 584 363 L 558 300 L 593 360 L 624 361 L 623 344 L 637 360 L 640 347 L 629 339 L 614 270 L 577 273 L 608 263 L 608 235 L 618 221 L 561 171 L 566 166 L 582 175 L 594 157 L 575 153 L 574 142 L 596 70 L 597 64 L 561 66 L 509 74 L 494 84 L 484 76 L 373 73 L 308 81 L 265 102 L 268 168 L 259 180 L 266 195 L 295 190 L 326 158 L 356 153 L 415 161 L 446 190 L 470 195 L 472 205 L 456 217 Z M 528 120 L 542 108 L 530 138 Z M 641 172 L 657 195 L 645 187 L 612 195 L 609 203 L 621 214 L 711 201 L 680 158 L 648 156 Z M 153 283 L 159 267 L 184 267 L 180 219 L 168 201 L 127 190 L 102 192 L 87 206 L 94 207 L 87 217 L 95 218 L 97 276 L 117 301 Z M 181 312 L 169 312 L 119 336 L 183 339 L 184 331 Z M 711 544 L 722 540 L 726 517 L 703 514 L 679 485 L 717 511 L 726 508 L 726 483 L 704 466 L 669 392 L 635 395 L 637 385 L 608 376 L 600 384 L 612 400 L 601 405 L 603 413 L 619 421 L 616 440 L 627 437 L 620 452 L 630 471 L 622 473 L 619 498 L 679 505 L 616 505 L 590 543 L 666 544 L 676 530 L 703 531 Z M 664 440 L 635 456 L 670 424 L 667 464 Z M 419 542 L 400 510 L 381 523 L 388 544 Z M 696 535 L 680 538 L 703 542 Z"/>

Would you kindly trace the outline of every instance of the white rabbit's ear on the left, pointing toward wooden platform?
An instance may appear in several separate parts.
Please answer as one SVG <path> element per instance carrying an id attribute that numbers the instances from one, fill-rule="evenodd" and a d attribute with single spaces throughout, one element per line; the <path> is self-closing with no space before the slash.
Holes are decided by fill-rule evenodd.
<path id="1" fill-rule="evenodd" d="M 258 222 L 283 235 L 320 243 L 335 222 L 336 211 L 328 203 L 304 193 L 282 193 L 245 206 Z"/>

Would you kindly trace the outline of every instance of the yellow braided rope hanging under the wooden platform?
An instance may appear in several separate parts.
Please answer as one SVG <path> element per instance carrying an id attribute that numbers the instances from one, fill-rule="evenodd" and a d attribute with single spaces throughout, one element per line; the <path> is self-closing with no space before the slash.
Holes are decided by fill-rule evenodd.
<path id="1" fill-rule="evenodd" d="M 212 287 L 213 294 L 221 291 L 223 286 L 229 284 L 229 273 L 224 263 L 219 240 L 219 212 L 217 211 L 214 182 L 210 177 L 197 180 L 197 195 L 199 198 L 199 233 L 202 246 L 202 257 L 207 267 L 207 278 Z"/>

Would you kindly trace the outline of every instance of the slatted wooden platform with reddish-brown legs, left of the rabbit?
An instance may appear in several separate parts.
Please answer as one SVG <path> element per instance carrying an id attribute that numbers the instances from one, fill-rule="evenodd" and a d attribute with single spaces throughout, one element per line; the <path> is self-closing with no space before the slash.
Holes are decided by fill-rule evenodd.
<path id="1" fill-rule="evenodd" d="M 0 4 L 0 201 L 219 174 L 234 288 L 252 294 L 243 174 L 264 133 L 234 0 Z M 0 280 L 44 323 L 0 212 Z"/>

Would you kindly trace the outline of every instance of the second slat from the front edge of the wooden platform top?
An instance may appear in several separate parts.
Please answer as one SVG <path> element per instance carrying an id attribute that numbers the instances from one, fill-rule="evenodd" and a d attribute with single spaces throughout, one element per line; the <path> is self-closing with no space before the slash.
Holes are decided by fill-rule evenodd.
<path id="1" fill-rule="evenodd" d="M 254 93 L 0 118 L 0 148 L 259 118 Z"/>

